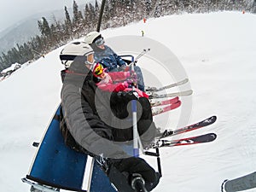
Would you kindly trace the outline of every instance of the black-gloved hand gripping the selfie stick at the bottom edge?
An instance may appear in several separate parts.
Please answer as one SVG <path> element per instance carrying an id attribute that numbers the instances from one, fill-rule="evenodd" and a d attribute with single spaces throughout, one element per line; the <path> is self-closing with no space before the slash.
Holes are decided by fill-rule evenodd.
<path id="1" fill-rule="evenodd" d="M 160 174 L 155 172 L 154 169 L 141 158 L 131 157 L 121 160 L 110 160 L 110 164 L 124 174 L 130 184 L 134 179 L 134 176 L 140 175 L 143 177 L 145 187 L 148 191 L 154 189 L 159 183 Z"/>

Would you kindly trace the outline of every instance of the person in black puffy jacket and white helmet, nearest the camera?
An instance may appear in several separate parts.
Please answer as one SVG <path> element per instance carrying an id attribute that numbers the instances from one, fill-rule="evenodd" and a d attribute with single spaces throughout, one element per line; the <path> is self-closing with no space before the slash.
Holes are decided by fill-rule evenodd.
<path id="1" fill-rule="evenodd" d="M 84 42 L 68 44 L 61 51 L 61 108 L 67 131 L 74 141 L 102 163 L 113 184 L 119 185 L 118 171 L 132 185 L 134 176 L 141 177 L 148 191 L 159 183 L 160 175 L 141 159 L 123 148 L 132 143 L 131 100 L 137 100 L 137 127 L 144 145 L 154 140 L 156 128 L 147 98 L 136 92 L 108 92 L 97 89 L 91 73 L 93 49 Z M 63 127 L 62 127 L 63 128 Z M 61 128 L 61 129 L 62 129 Z M 113 174 L 114 172 L 114 174 Z M 119 191 L 133 191 L 119 187 Z"/>

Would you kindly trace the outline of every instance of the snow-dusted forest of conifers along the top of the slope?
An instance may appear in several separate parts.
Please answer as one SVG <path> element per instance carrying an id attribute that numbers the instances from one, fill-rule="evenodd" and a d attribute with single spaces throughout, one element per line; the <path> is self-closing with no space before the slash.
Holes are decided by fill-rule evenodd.
<path id="1" fill-rule="evenodd" d="M 0 71 L 11 66 L 38 59 L 49 51 L 67 44 L 74 38 L 96 31 L 101 3 L 86 3 L 83 8 L 73 1 L 73 13 L 64 8 L 65 19 L 38 20 L 40 35 L 25 44 L 16 44 L 0 55 Z M 214 11 L 238 10 L 256 13 L 256 0 L 106 0 L 101 29 L 125 26 L 143 18 L 183 13 L 209 13 Z"/>

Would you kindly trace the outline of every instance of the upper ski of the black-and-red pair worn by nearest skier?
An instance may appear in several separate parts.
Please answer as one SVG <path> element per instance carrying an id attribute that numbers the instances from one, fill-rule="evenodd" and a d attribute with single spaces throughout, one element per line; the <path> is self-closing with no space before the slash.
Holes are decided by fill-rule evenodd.
<path id="1" fill-rule="evenodd" d="M 204 120 L 202 120 L 198 123 L 195 123 L 193 125 L 188 125 L 188 126 L 185 126 L 183 128 L 179 128 L 179 129 L 173 130 L 173 131 L 166 130 L 162 133 L 160 138 L 175 136 L 175 135 L 178 135 L 178 134 L 182 134 L 183 132 L 193 131 L 193 130 L 197 130 L 197 129 L 200 129 L 202 127 L 205 127 L 207 125 L 212 125 L 216 121 L 216 119 L 217 119 L 217 116 L 213 115 L 212 117 L 204 119 Z"/>

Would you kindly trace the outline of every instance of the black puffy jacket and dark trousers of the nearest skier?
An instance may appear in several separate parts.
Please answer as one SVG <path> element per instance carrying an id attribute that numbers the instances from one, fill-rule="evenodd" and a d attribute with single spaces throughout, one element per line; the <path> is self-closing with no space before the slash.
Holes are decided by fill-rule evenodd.
<path id="1" fill-rule="evenodd" d="M 90 154 L 115 159 L 127 157 L 122 145 L 132 139 L 129 99 L 123 94 L 97 89 L 92 73 L 79 61 L 73 61 L 61 73 L 61 107 L 74 140 Z M 143 143 L 148 143 L 155 133 L 150 104 L 146 98 L 140 98 L 137 103 L 140 103 L 138 132 Z"/>

